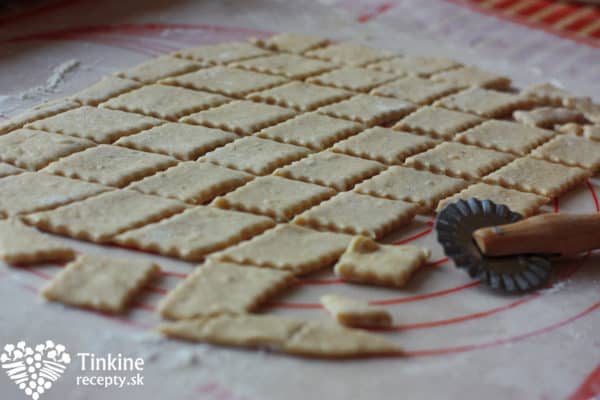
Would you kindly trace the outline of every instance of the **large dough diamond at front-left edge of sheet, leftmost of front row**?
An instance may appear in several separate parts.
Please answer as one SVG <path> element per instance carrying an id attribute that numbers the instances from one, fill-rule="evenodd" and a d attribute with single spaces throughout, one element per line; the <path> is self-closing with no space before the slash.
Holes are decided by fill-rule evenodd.
<path id="1" fill-rule="evenodd" d="M 186 207 L 175 200 L 132 190 L 113 190 L 50 211 L 28 214 L 23 220 L 37 228 L 97 243 L 163 218 Z"/>

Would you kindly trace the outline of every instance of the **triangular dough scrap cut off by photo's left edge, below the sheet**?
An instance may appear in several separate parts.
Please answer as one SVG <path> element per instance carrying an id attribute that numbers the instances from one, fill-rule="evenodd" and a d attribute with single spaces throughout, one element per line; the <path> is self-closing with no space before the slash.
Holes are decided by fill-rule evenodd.
<path id="1" fill-rule="evenodd" d="M 0 221 L 0 259 L 8 264 L 65 261 L 75 252 L 16 219 Z"/>

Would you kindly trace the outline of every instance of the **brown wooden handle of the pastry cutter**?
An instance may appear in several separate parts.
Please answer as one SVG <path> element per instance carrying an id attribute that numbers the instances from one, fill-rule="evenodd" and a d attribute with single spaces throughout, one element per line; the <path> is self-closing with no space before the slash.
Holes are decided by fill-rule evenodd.
<path id="1" fill-rule="evenodd" d="M 542 214 L 473 233 L 488 256 L 524 253 L 573 254 L 600 249 L 600 214 Z"/>

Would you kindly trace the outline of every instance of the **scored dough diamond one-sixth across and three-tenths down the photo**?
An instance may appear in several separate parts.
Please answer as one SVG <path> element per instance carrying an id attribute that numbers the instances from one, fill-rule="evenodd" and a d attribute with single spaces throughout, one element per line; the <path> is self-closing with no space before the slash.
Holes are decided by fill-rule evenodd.
<path id="1" fill-rule="evenodd" d="M 159 119 L 138 114 L 83 106 L 34 121 L 25 127 L 82 137 L 97 143 L 110 143 L 121 136 L 131 135 L 161 123 Z"/>

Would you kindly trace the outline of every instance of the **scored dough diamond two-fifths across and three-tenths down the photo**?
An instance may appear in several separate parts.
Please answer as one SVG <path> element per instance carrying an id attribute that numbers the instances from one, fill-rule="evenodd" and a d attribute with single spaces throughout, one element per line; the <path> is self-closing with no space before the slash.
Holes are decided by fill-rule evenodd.
<path id="1" fill-rule="evenodd" d="M 295 111 L 252 101 L 233 101 L 210 110 L 183 117 L 180 121 L 250 135 L 267 126 L 293 117 Z"/>

